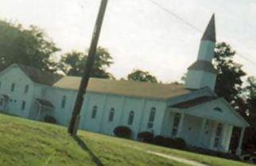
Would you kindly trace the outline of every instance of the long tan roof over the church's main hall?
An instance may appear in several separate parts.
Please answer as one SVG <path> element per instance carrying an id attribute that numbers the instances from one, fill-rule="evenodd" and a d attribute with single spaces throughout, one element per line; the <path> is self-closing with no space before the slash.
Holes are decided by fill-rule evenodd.
<path id="1" fill-rule="evenodd" d="M 81 77 L 65 76 L 53 86 L 60 89 L 79 89 Z M 138 81 L 114 81 L 100 78 L 90 78 L 87 90 L 122 96 L 134 96 L 167 100 L 174 96 L 181 96 L 191 92 L 184 85 L 157 84 Z"/>

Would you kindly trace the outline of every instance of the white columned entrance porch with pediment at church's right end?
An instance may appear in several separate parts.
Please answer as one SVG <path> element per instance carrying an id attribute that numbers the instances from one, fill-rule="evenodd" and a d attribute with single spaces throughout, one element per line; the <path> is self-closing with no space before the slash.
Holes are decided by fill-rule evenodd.
<path id="1" fill-rule="evenodd" d="M 233 127 L 242 129 L 236 153 L 241 154 L 245 120 L 225 100 L 181 103 L 166 110 L 163 134 L 183 138 L 190 146 L 228 153 Z"/>

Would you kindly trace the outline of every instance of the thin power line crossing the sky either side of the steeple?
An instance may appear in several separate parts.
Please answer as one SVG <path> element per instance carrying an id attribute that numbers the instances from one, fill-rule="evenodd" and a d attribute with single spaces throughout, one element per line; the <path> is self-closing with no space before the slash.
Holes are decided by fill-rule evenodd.
<path id="1" fill-rule="evenodd" d="M 170 11 L 169 9 L 161 6 L 159 3 L 153 1 L 153 0 L 148 0 L 149 2 L 151 2 L 153 5 L 157 6 L 158 8 L 164 10 L 166 13 L 169 13 L 170 15 L 172 15 L 173 17 L 176 17 L 176 19 L 182 21 L 185 25 L 189 26 L 190 28 L 193 28 L 194 30 L 196 30 L 196 32 L 200 32 L 202 33 L 203 31 L 200 30 L 200 28 L 197 28 L 195 25 L 192 25 L 190 22 L 184 20 L 184 18 L 180 17 L 179 15 L 177 15 L 176 13 L 173 13 L 172 11 Z M 239 53 L 237 53 L 236 55 L 238 55 L 240 58 L 246 60 L 247 62 L 250 62 L 251 64 L 253 64 L 254 66 L 256 66 L 256 62 L 254 62 L 253 60 L 251 60 L 250 58 L 245 57 L 244 55 L 241 55 Z"/>

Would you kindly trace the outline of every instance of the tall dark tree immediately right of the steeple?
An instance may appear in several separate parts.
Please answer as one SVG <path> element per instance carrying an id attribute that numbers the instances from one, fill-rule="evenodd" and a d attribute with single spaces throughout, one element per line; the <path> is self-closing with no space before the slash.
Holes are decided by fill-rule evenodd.
<path id="1" fill-rule="evenodd" d="M 239 110 L 245 104 L 241 95 L 242 77 L 246 76 L 246 73 L 242 70 L 242 65 L 234 62 L 235 54 L 235 51 L 227 43 L 216 44 L 214 64 L 218 74 L 215 92 Z"/>

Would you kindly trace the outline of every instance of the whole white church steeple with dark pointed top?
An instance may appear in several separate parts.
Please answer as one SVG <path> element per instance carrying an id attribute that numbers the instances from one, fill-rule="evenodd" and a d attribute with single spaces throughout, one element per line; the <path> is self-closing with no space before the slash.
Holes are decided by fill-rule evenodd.
<path id="1" fill-rule="evenodd" d="M 197 60 L 188 67 L 186 88 L 209 87 L 214 90 L 216 70 L 211 61 L 214 57 L 215 42 L 215 15 L 213 14 L 201 39 Z"/>

